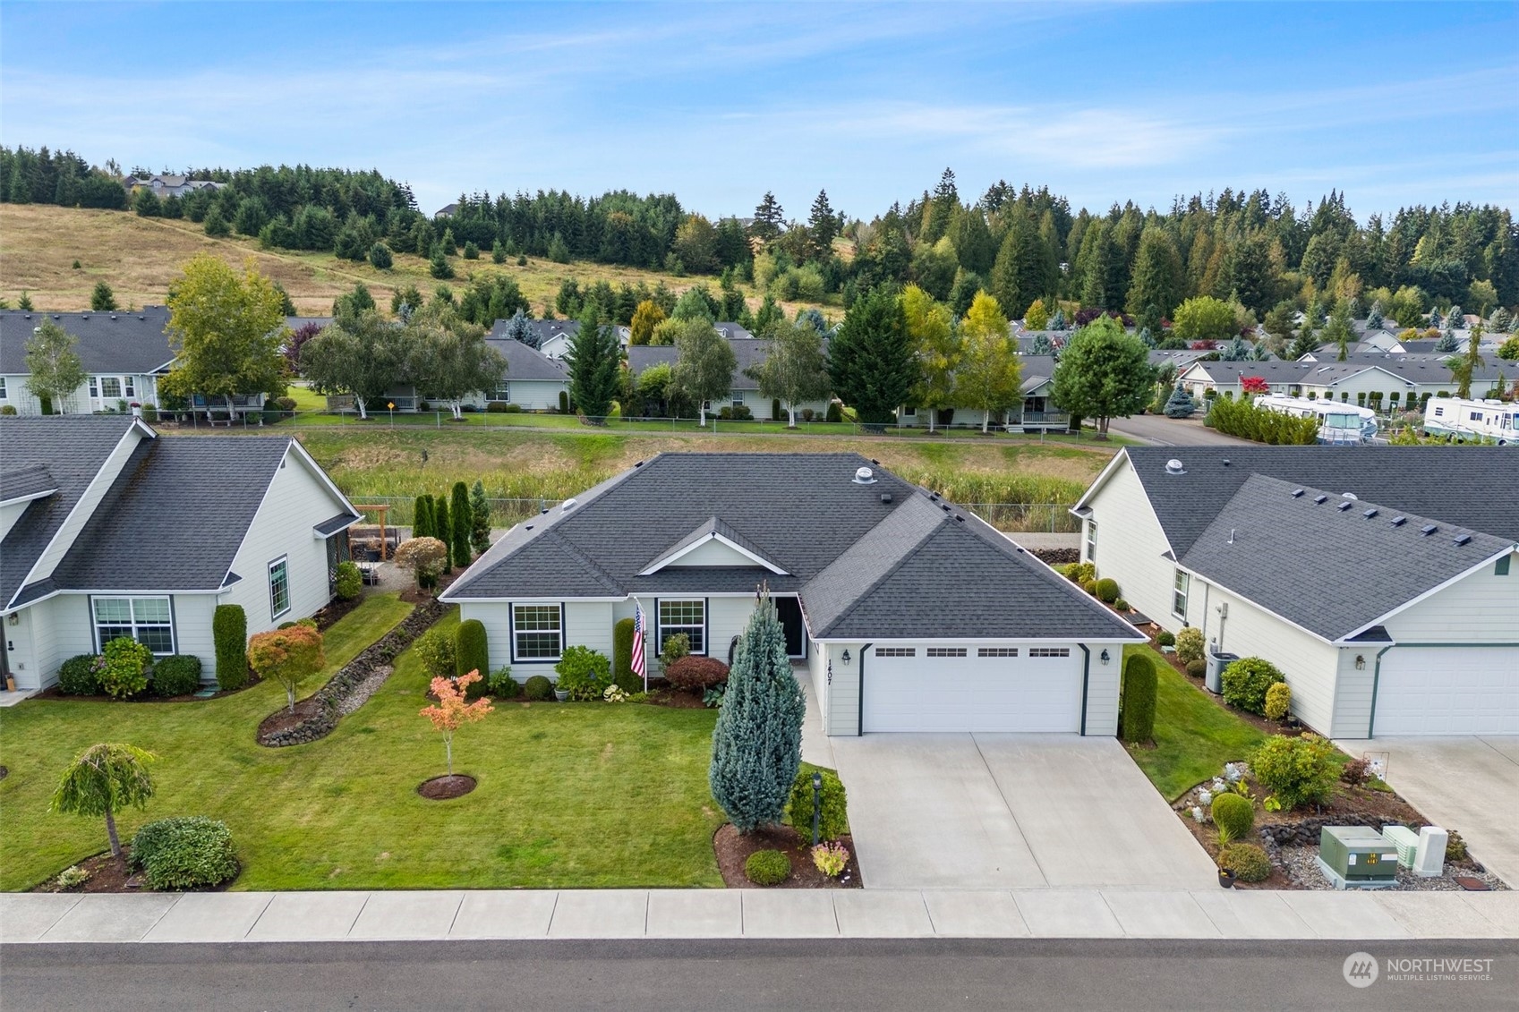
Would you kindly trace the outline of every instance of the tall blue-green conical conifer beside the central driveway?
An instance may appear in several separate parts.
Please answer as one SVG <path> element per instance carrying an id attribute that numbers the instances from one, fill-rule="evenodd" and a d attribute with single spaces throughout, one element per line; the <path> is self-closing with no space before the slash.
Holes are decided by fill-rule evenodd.
<path id="1" fill-rule="evenodd" d="M 728 673 L 708 770 L 712 798 L 740 833 L 781 821 L 802 761 L 805 711 L 785 655 L 785 631 L 769 588 L 761 588 Z"/>

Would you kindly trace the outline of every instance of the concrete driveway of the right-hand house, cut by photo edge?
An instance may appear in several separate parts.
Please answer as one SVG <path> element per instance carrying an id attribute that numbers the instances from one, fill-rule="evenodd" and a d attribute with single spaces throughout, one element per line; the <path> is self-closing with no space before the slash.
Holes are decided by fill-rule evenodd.
<path id="1" fill-rule="evenodd" d="M 1373 738 L 1344 749 L 1387 752 L 1387 783 L 1519 889 L 1519 737 Z"/>

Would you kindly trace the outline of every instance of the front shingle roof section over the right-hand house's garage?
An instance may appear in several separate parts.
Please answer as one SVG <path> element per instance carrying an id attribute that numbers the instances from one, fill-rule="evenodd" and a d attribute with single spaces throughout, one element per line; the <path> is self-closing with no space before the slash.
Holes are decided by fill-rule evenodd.
<path id="1" fill-rule="evenodd" d="M 1396 517 L 1404 523 L 1394 524 Z M 1423 533 L 1426 526 L 1435 530 Z M 1290 550 L 1282 550 L 1284 541 Z M 1182 565 L 1338 640 L 1511 547 L 1513 539 L 1364 497 L 1349 500 L 1252 474 L 1186 550 Z"/>

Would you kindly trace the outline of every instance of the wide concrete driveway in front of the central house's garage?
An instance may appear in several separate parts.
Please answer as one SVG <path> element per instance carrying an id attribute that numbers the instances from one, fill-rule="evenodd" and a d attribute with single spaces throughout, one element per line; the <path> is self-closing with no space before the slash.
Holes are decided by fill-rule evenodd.
<path id="1" fill-rule="evenodd" d="M 867 887 L 1217 886 L 1212 862 L 1113 738 L 831 738 Z"/>

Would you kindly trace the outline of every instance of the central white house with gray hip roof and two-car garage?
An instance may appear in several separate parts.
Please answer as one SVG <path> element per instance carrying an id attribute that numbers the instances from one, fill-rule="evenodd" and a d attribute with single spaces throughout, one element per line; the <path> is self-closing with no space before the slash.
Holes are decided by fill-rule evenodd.
<path id="1" fill-rule="evenodd" d="M 1110 735 L 1141 637 L 972 514 L 852 453 L 665 453 L 512 527 L 444 593 L 486 626 L 491 667 L 554 678 L 647 617 L 729 649 L 769 585 L 831 735 Z"/>

